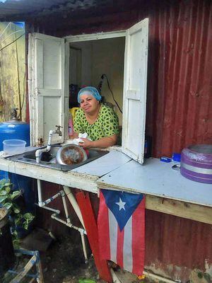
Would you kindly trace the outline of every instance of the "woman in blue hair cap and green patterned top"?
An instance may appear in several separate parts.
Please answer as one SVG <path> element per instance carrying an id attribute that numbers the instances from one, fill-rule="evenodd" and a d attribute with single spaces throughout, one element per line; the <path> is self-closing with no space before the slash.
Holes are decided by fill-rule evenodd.
<path id="1" fill-rule="evenodd" d="M 102 96 L 93 86 L 86 86 L 78 92 L 80 108 L 74 117 L 74 137 L 78 137 L 78 133 L 86 132 L 92 141 L 81 138 L 83 143 L 79 144 L 86 149 L 105 148 L 117 142 L 118 117 L 111 108 L 100 103 L 101 98 Z"/>

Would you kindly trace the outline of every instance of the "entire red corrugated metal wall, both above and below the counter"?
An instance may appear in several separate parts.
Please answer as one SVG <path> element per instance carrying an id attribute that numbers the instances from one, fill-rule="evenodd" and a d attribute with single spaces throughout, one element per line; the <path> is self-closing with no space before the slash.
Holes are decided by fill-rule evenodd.
<path id="1" fill-rule="evenodd" d="M 126 29 L 148 17 L 146 132 L 153 137 L 153 156 L 212 143 L 212 1 L 124 2 L 57 18 L 57 28 L 55 18 L 29 26 L 64 36 Z M 182 282 L 194 268 L 205 271 L 206 260 L 212 269 L 211 231 L 208 224 L 147 210 L 146 267 Z"/>

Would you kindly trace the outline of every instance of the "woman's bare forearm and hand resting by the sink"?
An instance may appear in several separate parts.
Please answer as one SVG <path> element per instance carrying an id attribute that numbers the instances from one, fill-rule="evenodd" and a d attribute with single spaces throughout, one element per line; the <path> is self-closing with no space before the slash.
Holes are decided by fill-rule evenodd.
<path id="1" fill-rule="evenodd" d="M 81 138 L 83 139 L 83 138 Z M 105 149 L 108 146 L 113 146 L 117 143 L 117 134 L 113 134 L 111 137 L 102 137 L 98 141 L 90 141 L 89 139 L 83 139 L 83 143 L 79 143 L 84 149 L 91 149 L 93 147 L 99 147 Z"/>

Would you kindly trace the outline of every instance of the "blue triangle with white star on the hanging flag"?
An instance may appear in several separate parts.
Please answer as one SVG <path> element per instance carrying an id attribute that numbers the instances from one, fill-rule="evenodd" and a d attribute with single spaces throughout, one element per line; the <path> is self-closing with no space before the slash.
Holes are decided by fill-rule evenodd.
<path id="1" fill-rule="evenodd" d="M 138 207 L 141 200 L 143 200 L 143 194 L 131 194 L 129 192 L 119 192 L 112 190 L 101 190 L 105 197 L 107 207 L 111 210 L 120 231 L 124 229 L 126 222 Z"/>

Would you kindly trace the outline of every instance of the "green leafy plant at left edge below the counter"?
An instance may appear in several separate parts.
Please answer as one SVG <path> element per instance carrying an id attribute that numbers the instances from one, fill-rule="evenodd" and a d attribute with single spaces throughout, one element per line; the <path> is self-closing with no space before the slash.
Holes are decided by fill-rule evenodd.
<path id="1" fill-rule="evenodd" d="M 35 216 L 30 212 L 21 213 L 17 199 L 22 195 L 21 190 L 11 190 L 13 184 L 10 180 L 0 180 L 0 207 L 6 207 L 11 220 L 11 233 L 13 236 L 13 245 L 18 246 L 18 227 L 28 230 L 29 224 Z"/>

